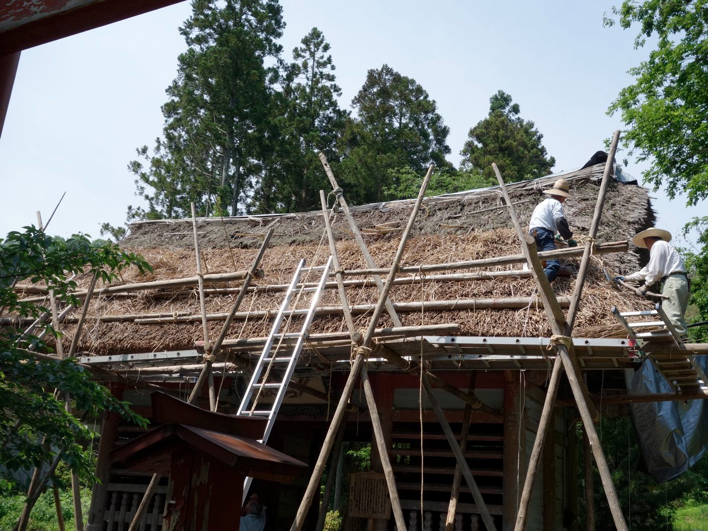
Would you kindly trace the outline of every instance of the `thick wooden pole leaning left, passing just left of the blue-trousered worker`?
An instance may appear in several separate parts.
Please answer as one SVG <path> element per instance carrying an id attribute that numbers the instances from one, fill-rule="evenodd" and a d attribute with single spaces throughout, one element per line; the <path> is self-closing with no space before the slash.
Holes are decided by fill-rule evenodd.
<path id="1" fill-rule="evenodd" d="M 499 185 L 501 187 L 504 198 L 509 207 L 510 215 L 512 217 L 512 222 L 517 231 L 519 239 L 521 240 L 522 250 L 527 257 L 527 261 L 532 270 L 534 280 L 539 288 L 539 295 L 542 298 L 544 309 L 547 312 L 549 318 L 549 324 L 551 325 L 552 332 L 554 336 L 564 336 L 566 331 L 566 319 L 559 319 L 559 314 L 562 316 L 562 310 L 556 300 L 556 297 L 551 289 L 551 286 L 543 273 L 543 268 L 541 261 L 538 258 L 538 253 L 535 246 L 535 241 L 532 237 L 526 237 L 523 229 L 521 228 L 518 218 L 516 217 L 516 212 L 511 200 L 509 198 L 506 186 L 504 185 L 503 178 L 501 178 L 501 173 L 499 173 L 496 164 L 492 164 L 494 172 L 496 173 Z M 617 493 L 615 491 L 615 486 L 612 483 L 612 477 L 607 469 L 607 460 L 605 459 L 605 454 L 600 446 L 600 440 L 598 438 L 597 432 L 595 431 L 595 425 L 593 424 L 593 414 L 590 412 L 590 407 L 596 412 L 595 406 L 589 399 L 586 398 L 587 390 L 584 388 L 583 384 L 579 379 L 580 372 L 573 365 L 574 356 L 568 352 L 566 346 L 562 343 L 556 346 L 557 357 L 561 359 L 563 367 L 566 370 L 566 375 L 568 376 L 569 383 L 571 384 L 571 389 L 573 391 L 573 396 L 576 399 L 576 404 L 578 406 L 578 411 L 583 420 L 583 425 L 588 433 L 588 438 L 590 438 L 591 445 L 593 447 L 593 453 L 595 455 L 595 462 L 598 464 L 598 469 L 600 471 L 600 477 L 603 479 L 603 486 L 605 488 L 605 495 L 607 496 L 607 501 L 610 504 L 610 511 L 612 512 L 612 518 L 615 520 L 615 527 L 617 530 L 624 531 L 627 530 L 627 523 L 624 522 L 624 515 L 622 515 L 622 510 L 619 507 L 619 500 L 617 499 Z M 554 367 L 555 372 L 555 367 Z M 550 415 L 551 413 L 549 413 Z M 529 480 L 527 476 L 527 481 Z M 525 520 L 525 515 L 523 520 Z M 523 529 L 518 527 L 517 520 L 517 530 Z"/>

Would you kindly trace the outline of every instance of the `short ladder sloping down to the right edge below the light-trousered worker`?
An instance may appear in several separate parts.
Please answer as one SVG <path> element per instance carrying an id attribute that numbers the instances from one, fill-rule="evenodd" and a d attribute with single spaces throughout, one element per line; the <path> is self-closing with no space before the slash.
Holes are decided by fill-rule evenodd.
<path id="1" fill-rule="evenodd" d="M 707 389 L 708 379 L 700 365 L 697 364 L 695 356 L 689 355 L 683 340 L 669 321 L 660 303 L 657 303 L 653 310 L 644 312 L 619 312 L 617 307 L 612 308 L 612 314 L 619 324 L 624 326 L 629 337 L 636 341 L 641 347 L 647 341 L 675 341 L 682 353 L 678 354 L 655 354 L 651 358 L 656 369 L 666 378 L 675 392 L 695 392 Z M 652 321 L 629 322 L 626 317 L 655 317 Z M 655 328 L 661 329 L 653 331 L 641 331 L 641 329 Z"/>

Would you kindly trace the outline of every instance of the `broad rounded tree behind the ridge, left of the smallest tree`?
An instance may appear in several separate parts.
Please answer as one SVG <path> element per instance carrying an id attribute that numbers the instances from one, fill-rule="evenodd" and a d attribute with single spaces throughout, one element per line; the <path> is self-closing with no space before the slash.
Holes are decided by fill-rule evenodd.
<path id="1" fill-rule="evenodd" d="M 353 201 L 384 200 L 384 187 L 399 184 L 389 170 L 409 166 L 422 176 L 431 163 L 450 166 L 445 160 L 450 128 L 414 79 L 387 64 L 371 69 L 352 105 L 356 118 L 348 120 L 341 139 L 339 171 Z"/>

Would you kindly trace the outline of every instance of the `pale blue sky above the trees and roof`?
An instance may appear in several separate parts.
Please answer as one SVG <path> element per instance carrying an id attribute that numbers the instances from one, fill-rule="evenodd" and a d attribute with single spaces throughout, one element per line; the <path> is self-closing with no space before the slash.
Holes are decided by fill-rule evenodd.
<path id="1" fill-rule="evenodd" d="M 603 28 L 612 2 L 281 4 L 285 59 L 313 26 L 322 30 L 346 108 L 367 69 L 387 63 L 416 79 L 450 127 L 455 164 L 501 89 L 535 121 L 554 171 L 581 166 L 621 128 L 605 110 L 647 53 L 633 49 L 634 30 Z M 185 49 L 177 28 L 189 14 L 182 2 L 22 52 L 0 138 L 0 234 L 36 223 L 37 210 L 46 221 L 65 190 L 51 234 L 97 237 L 101 222 L 125 220 L 126 206 L 139 202 L 126 165 L 161 134 L 164 90 Z M 631 163 L 628 171 L 641 178 L 642 169 Z M 653 195 L 658 226 L 675 238 L 704 212 Z"/>

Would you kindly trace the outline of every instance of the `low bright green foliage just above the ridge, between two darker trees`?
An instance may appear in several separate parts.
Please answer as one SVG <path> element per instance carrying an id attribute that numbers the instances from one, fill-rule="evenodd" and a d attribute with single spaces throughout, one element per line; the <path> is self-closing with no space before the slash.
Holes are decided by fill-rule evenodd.
<path id="1" fill-rule="evenodd" d="M 389 185 L 384 185 L 383 193 L 386 200 L 412 199 L 418 197 L 423 184 L 423 176 L 419 175 L 411 166 L 400 169 L 389 169 Z M 470 171 L 457 171 L 444 167 L 435 168 L 430 176 L 426 197 L 442 195 L 445 193 L 476 190 L 496 184 L 496 177 L 491 178 Z"/>

